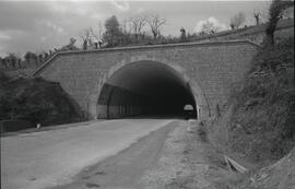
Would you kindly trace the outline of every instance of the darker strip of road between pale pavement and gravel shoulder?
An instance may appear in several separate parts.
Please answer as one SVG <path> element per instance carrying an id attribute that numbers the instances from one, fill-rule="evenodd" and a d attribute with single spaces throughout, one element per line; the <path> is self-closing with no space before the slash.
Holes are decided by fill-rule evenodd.
<path id="1" fill-rule="evenodd" d="M 157 167 L 165 142 L 177 126 L 175 121 L 153 131 L 117 155 L 85 168 L 71 184 L 52 189 L 145 189 L 139 180 L 145 172 Z"/>

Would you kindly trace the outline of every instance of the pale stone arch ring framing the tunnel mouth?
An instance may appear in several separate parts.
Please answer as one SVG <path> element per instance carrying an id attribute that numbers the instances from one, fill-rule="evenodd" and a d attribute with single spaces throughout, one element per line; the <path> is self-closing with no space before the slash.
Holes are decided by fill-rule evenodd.
<path id="1" fill-rule="evenodd" d="M 119 70 L 130 66 L 130 64 L 140 64 L 140 63 L 144 63 L 144 62 L 156 62 L 160 64 L 163 64 L 172 70 L 174 70 L 175 72 L 177 72 L 181 79 L 188 84 L 189 90 L 192 92 L 193 94 L 193 101 L 196 102 L 196 110 L 197 110 L 197 115 L 198 118 L 206 118 L 211 116 L 210 113 L 210 107 L 209 107 L 209 103 L 208 99 L 205 97 L 205 94 L 203 92 L 203 90 L 201 88 L 199 82 L 196 79 L 192 79 L 190 75 L 188 75 L 186 69 L 184 69 L 181 66 L 177 64 L 177 63 L 173 63 L 173 62 L 168 62 L 165 59 L 156 59 L 154 57 L 146 57 L 146 56 L 140 56 L 140 57 L 131 57 L 130 60 L 125 60 L 122 59 L 120 62 L 116 63 L 115 66 L 113 66 L 104 75 L 103 78 L 103 82 L 99 82 L 98 85 L 98 96 L 97 96 L 97 103 L 96 103 L 96 115 L 98 115 L 99 118 L 99 111 L 107 111 L 107 107 L 103 107 L 99 106 L 99 98 L 102 97 L 102 93 L 105 90 L 104 87 L 106 87 L 108 80 L 111 79 L 111 76 L 114 74 L 116 74 L 116 72 L 118 72 Z M 107 92 L 107 93 L 111 93 L 111 91 Z M 111 94 L 110 94 L 111 95 Z M 122 111 L 121 107 L 117 108 L 117 111 Z"/>

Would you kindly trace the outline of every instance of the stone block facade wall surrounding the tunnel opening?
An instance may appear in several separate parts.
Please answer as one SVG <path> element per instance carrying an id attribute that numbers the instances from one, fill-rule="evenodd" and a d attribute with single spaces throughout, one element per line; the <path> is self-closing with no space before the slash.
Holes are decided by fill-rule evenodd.
<path id="1" fill-rule="evenodd" d="M 190 84 L 200 117 L 214 115 L 229 88 L 247 72 L 258 46 L 249 42 L 174 44 L 61 52 L 35 72 L 61 84 L 81 108 L 95 118 L 104 83 L 119 68 L 140 60 L 170 66 Z"/>

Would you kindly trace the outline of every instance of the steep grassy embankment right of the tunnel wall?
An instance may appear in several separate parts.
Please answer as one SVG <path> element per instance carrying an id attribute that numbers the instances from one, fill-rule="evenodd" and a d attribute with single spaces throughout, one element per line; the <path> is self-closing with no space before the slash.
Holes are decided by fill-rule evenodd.
<path id="1" fill-rule="evenodd" d="M 295 146 L 294 38 L 261 49 L 209 125 L 213 143 L 261 165 Z"/>

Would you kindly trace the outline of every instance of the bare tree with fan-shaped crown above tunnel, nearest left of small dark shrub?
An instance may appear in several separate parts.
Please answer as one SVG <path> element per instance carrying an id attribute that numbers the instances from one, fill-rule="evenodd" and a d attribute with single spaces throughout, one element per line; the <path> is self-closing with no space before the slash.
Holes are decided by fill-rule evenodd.
<path id="1" fill-rule="evenodd" d="M 151 14 L 146 21 L 151 32 L 153 33 L 154 39 L 156 39 L 157 36 L 160 36 L 161 26 L 166 23 L 166 19 L 161 17 L 158 14 Z"/>

